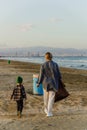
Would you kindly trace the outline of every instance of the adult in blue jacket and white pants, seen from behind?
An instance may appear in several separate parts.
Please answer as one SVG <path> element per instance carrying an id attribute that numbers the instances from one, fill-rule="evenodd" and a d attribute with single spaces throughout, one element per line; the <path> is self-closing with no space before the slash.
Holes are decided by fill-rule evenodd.
<path id="1" fill-rule="evenodd" d="M 59 79 L 61 74 L 58 64 L 52 61 L 52 54 L 47 52 L 45 54 L 46 62 L 41 66 L 40 75 L 38 80 L 39 84 L 43 84 L 44 88 L 44 112 L 48 117 L 53 116 L 52 108 L 55 99 L 55 93 L 58 90 Z"/>

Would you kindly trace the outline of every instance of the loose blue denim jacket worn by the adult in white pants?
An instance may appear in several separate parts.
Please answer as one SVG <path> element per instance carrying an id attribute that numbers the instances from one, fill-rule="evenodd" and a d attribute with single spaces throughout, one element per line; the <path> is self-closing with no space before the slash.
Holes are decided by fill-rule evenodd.
<path id="1" fill-rule="evenodd" d="M 38 84 L 42 83 L 47 91 L 57 91 L 59 79 L 61 79 L 61 73 L 58 64 L 54 61 L 46 61 L 40 68 Z"/>

